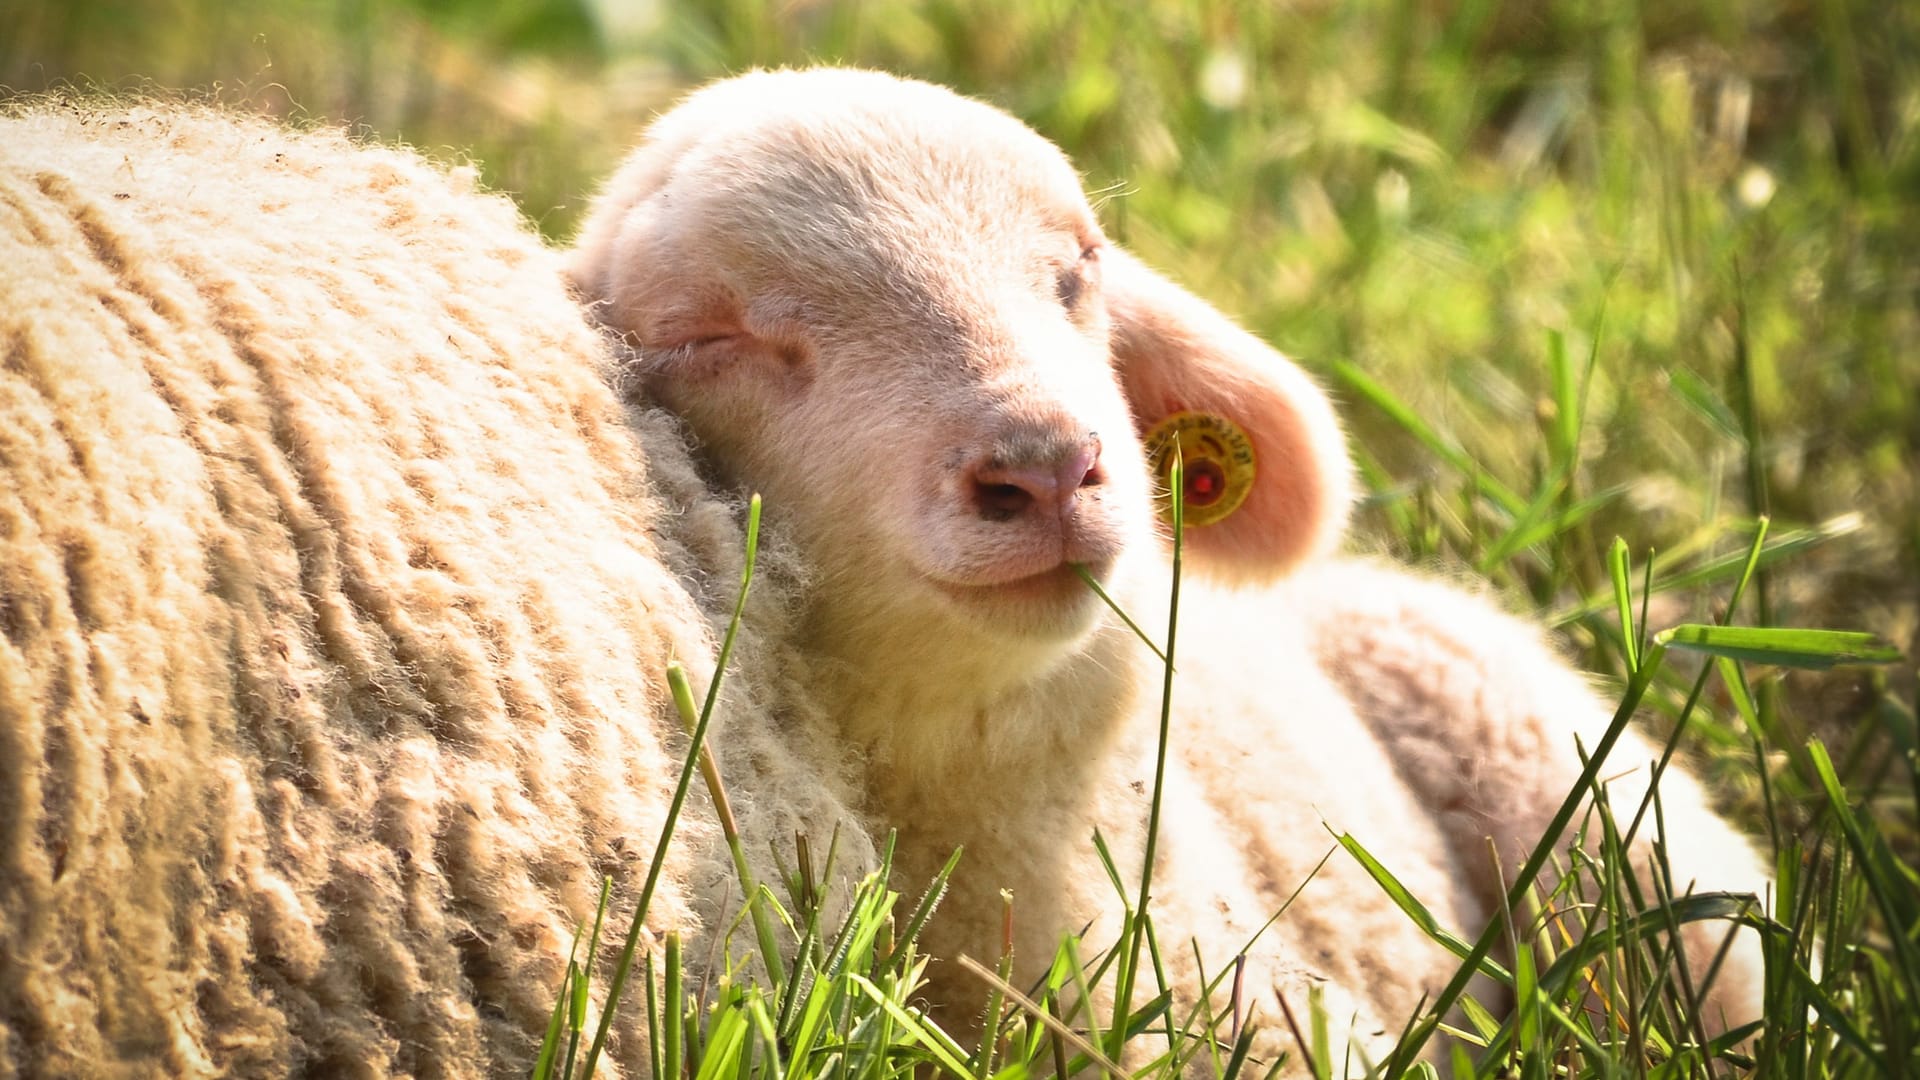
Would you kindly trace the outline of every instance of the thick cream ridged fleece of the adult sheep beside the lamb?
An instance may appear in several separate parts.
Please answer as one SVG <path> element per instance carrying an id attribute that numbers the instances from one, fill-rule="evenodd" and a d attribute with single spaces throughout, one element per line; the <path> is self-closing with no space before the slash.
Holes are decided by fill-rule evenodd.
<path id="1" fill-rule="evenodd" d="M 0 348 L 0 1076 L 524 1068 L 739 559 L 555 256 L 407 152 L 27 102 Z M 728 711 L 749 849 L 831 828 Z M 724 894 L 701 807 L 655 926 Z"/>

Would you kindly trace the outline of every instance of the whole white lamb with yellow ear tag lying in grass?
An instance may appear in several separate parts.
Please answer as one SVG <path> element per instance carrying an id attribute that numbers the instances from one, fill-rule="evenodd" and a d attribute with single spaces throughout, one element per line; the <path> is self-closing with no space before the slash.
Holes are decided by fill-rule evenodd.
<path id="1" fill-rule="evenodd" d="M 964 846 L 931 955 L 996 957 L 1002 888 L 1020 984 L 1064 934 L 1112 940 L 1091 838 L 1139 874 L 1162 663 L 1073 565 L 1164 625 L 1148 457 L 1173 438 L 1208 575 L 1179 600 L 1154 869 L 1185 1001 L 1194 953 L 1227 963 L 1300 890 L 1250 978 L 1296 1015 L 1321 992 L 1380 1061 L 1457 963 L 1356 861 L 1313 872 L 1327 828 L 1475 934 L 1503 892 L 1486 838 L 1517 867 L 1580 773 L 1574 738 L 1607 726 L 1532 626 L 1338 555 L 1354 480 L 1329 398 L 1110 242 L 1062 152 L 987 104 L 852 69 L 701 88 L 607 181 L 568 273 L 634 396 L 684 417 L 799 548 L 797 648 L 904 878 Z M 1619 799 L 1651 757 L 1622 738 Z M 1764 894 L 1749 842 L 1676 773 L 1680 882 Z M 1711 1011 L 1755 1017 L 1759 963 L 1747 934 Z M 948 1022 L 983 995 L 931 969 Z M 1265 1020 L 1281 1030 L 1271 997 Z"/>

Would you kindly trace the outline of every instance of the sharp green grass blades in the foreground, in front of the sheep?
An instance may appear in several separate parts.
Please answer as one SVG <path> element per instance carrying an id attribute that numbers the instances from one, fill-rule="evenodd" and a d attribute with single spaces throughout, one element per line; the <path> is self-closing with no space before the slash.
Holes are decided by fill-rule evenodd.
<path id="1" fill-rule="evenodd" d="M 1175 538 L 1181 500 L 1179 461 L 1169 477 Z M 707 1001 L 685 988 L 687 970 L 678 936 L 668 936 L 660 972 L 645 959 L 649 1045 L 655 1076 L 718 1078 L 895 1078 L 952 1076 L 954 1080 L 1016 1080 L 1033 1072 L 1071 1076 L 1100 1072 L 1114 1078 L 1177 1078 L 1212 1074 L 1225 1080 L 1275 1076 L 1290 1055 L 1273 1061 L 1254 1055 L 1258 1024 L 1244 1022 L 1238 970 L 1244 957 L 1217 963 L 1206 994 L 1183 1011 L 1183 997 L 1162 972 L 1160 942 L 1152 922 L 1152 851 L 1160 821 L 1160 776 L 1156 771 L 1152 813 L 1146 821 L 1146 859 L 1139 892 L 1129 896 L 1106 847 L 1102 861 L 1114 880 L 1116 901 L 1123 907 L 1119 940 L 1085 957 L 1085 949 L 1104 944 L 1066 938 L 1041 984 L 1014 986 L 1012 930 L 1008 928 L 996 969 L 973 957 L 954 957 L 958 967 L 991 986 L 981 1036 L 966 1045 L 935 1024 L 916 1003 L 924 959 L 916 951 L 920 926 L 931 915 L 956 872 L 960 853 L 927 884 L 904 928 L 895 934 L 899 894 L 891 892 L 889 838 L 881 867 L 856 884 L 845 919 L 831 930 L 822 924 L 822 897 L 831 892 L 831 857 L 816 878 L 803 857 L 803 871 L 787 884 L 787 903 L 755 882 L 741 855 L 739 834 L 726 811 L 724 782 L 703 746 L 726 657 L 753 580 L 758 534 L 758 500 L 747 523 L 747 559 L 739 601 L 722 644 L 714 682 L 703 707 L 695 709 L 685 676 L 670 671 L 668 682 L 691 740 L 680 784 L 674 790 L 666 830 L 653 867 L 664 861 L 674 821 L 684 805 L 695 763 L 720 815 L 722 832 L 733 851 L 741 894 L 749 897 L 741 919 L 755 924 L 755 947 L 747 961 L 733 965 L 732 938 L 720 951 L 728 969 L 718 972 L 718 990 Z M 1834 665 L 1893 663 L 1901 655 L 1872 634 L 1837 630 L 1780 630 L 1732 625 L 1749 588 L 1757 582 L 1766 550 L 1766 527 L 1753 532 L 1741 573 L 1734 580 L 1726 619 L 1718 625 L 1682 625 L 1647 634 L 1634 619 L 1632 567 L 1624 544 L 1609 552 L 1611 588 L 1620 611 L 1620 651 L 1628 657 L 1630 682 L 1607 732 L 1590 748 L 1578 784 L 1567 794 L 1548 832 L 1517 869 L 1505 903 L 1475 942 L 1455 936 L 1434 920 L 1428 909 L 1380 865 L 1361 840 L 1340 834 L 1338 844 L 1379 882 L 1407 919 L 1432 940 L 1452 949 L 1461 965 L 1419 1015 L 1407 1019 L 1398 1045 L 1384 1061 L 1334 1063 L 1325 1015 L 1309 997 L 1302 1028 L 1286 1001 L 1281 1009 L 1292 1026 L 1296 1067 L 1315 1078 L 1332 1076 L 1438 1076 L 1423 1061 L 1430 1040 L 1444 1032 L 1452 1042 L 1448 1072 L 1455 1080 L 1494 1076 L 1903 1076 L 1920 1065 L 1920 869 L 1903 859 L 1870 821 L 1855 809 L 1855 798 L 1841 784 L 1826 748 L 1812 740 L 1812 763 L 1824 805 L 1811 830 L 1788 836 L 1776 817 L 1768 819 L 1778 867 L 1778 894 L 1772 897 L 1738 894 L 1695 894 L 1676 888 L 1665 863 L 1667 834 L 1657 782 L 1636 807 L 1615 807 L 1601 782 L 1603 765 L 1615 740 L 1659 676 L 1668 671 L 1668 650 L 1692 650 L 1713 657 L 1692 678 L 1692 692 L 1674 726 L 1665 771 L 1686 723 L 1709 680 L 1741 701 L 1749 738 L 1763 759 L 1764 732 L 1753 705 L 1747 665 L 1826 669 Z M 1167 675 L 1162 696 L 1160 761 L 1169 749 L 1173 665 L 1179 619 L 1181 544 L 1175 540 L 1171 563 L 1171 601 L 1165 651 Z M 1125 617 L 1121 613 L 1121 617 Z M 1127 621 L 1129 625 L 1131 619 Z M 1144 642 L 1142 634 L 1142 642 Z M 1148 642 L 1150 646 L 1150 642 Z M 1158 650 L 1156 650 L 1158 651 Z M 1920 792 L 1920 761 L 1907 757 L 1910 786 Z M 1655 857 L 1647 878 L 1622 874 L 1632 865 L 1634 836 L 1653 834 Z M 1553 869 L 1548 892 L 1546 872 Z M 634 961 L 636 942 L 647 913 L 655 878 L 649 874 L 634 913 L 626 949 L 601 1005 L 599 1032 L 580 1057 L 580 1034 L 589 1007 L 591 957 L 568 961 L 568 976 L 553 1007 L 536 1080 L 589 1078 L 605 1043 L 609 1017 Z M 1770 901 L 1774 915 L 1763 911 Z M 1012 897 L 1008 926 L 1012 920 Z M 601 894 L 601 915 L 607 890 Z M 1284 911 L 1275 913 L 1275 919 Z M 787 928 L 791 949 L 768 924 Z M 1763 936 L 1766 951 L 1764 1020 L 1709 1036 L 1713 1019 L 1703 1005 L 1715 969 L 1695 982 L 1686 963 L 1676 963 L 1676 938 L 1688 922 L 1747 926 Z M 735 922 L 737 924 L 737 922 Z M 593 920 L 589 942 L 601 934 Z M 576 938 L 578 945 L 578 938 Z M 1505 945 L 1509 965 L 1494 959 Z M 1724 945 L 1722 945 L 1724 949 Z M 1154 972 L 1154 994 L 1135 994 L 1142 955 Z M 1206 970 L 1206 965 L 1202 965 Z M 1215 992 L 1235 974 L 1229 1015 L 1212 1011 Z M 703 972 L 714 978 L 716 972 Z M 1475 976 L 1492 978 L 1507 995 L 1478 1001 L 1469 994 Z M 1085 1005 L 1094 988 L 1112 984 L 1114 1015 L 1104 1022 Z M 657 997 L 659 994 L 659 997 Z M 1144 997 L 1144 1003 L 1133 1005 Z M 1503 1017 L 1500 1013 L 1505 1013 Z M 1465 1026 L 1450 1022 L 1465 1017 Z M 1352 1051 L 1348 1051 L 1352 1053 Z M 1119 1065 L 1125 1061 L 1127 1065 Z"/>

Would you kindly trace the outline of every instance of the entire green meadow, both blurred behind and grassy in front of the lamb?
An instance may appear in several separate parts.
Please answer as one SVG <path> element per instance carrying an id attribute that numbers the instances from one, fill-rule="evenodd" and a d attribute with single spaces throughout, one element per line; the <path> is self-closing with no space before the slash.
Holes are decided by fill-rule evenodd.
<path id="1" fill-rule="evenodd" d="M 645 119 L 710 77 L 860 63 L 1008 108 L 1073 156 L 1116 238 L 1338 394 L 1369 492 L 1357 548 L 1486 578 L 1557 626 L 1780 857 L 1776 1024 L 1755 1043 L 1688 1049 L 1688 990 L 1620 959 L 1657 936 L 1599 932 L 1657 897 L 1596 878 L 1582 899 L 1611 920 L 1523 942 L 1501 969 L 1523 1007 L 1452 1013 L 1442 1072 L 1920 1068 L 1920 6 L 25 0 L 0 27 L 0 92 L 359 125 L 476 165 L 555 242 Z M 1659 642 L 1684 623 L 1872 638 Z M 818 926 L 816 871 L 793 878 L 766 894 L 801 928 L 768 965 L 791 978 L 689 1017 L 678 959 L 634 984 L 678 1055 L 662 1072 L 985 1080 L 1100 1068 L 1127 1038 L 1271 1065 L 1235 1055 L 1227 1019 L 1165 1007 L 1069 1019 L 1071 1038 L 1010 1007 L 952 1043 L 912 1011 L 914 897 L 870 882 Z M 1486 963 L 1480 928 L 1450 930 Z M 1596 1017 L 1569 972 L 1607 949 L 1640 974 Z M 1041 1011 L 1123 976 L 1066 953 L 1056 972 Z"/>

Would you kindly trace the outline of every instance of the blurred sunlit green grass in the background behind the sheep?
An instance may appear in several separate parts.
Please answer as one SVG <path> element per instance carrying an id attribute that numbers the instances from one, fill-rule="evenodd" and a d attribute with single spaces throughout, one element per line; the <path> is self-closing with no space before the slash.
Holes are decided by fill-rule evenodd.
<path id="1" fill-rule="evenodd" d="M 1066 146 L 1117 238 L 1329 380 L 1363 546 L 1484 573 L 1605 665 L 1582 598 L 1607 540 L 1697 565 L 1764 509 L 1809 548 L 1766 617 L 1912 651 L 1920 4 L 13 4 L 12 92 L 361 125 L 476 161 L 555 240 L 701 81 L 829 61 L 952 85 Z M 1884 692 L 1809 688 L 1828 717 Z"/>

